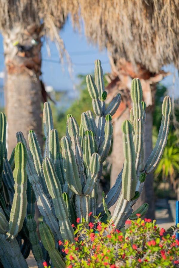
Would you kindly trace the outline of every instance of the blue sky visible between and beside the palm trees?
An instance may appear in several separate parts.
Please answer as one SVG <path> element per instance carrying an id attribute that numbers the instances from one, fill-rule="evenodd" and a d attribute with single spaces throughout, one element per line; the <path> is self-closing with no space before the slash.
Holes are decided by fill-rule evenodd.
<path id="1" fill-rule="evenodd" d="M 65 47 L 70 54 L 73 63 L 73 82 L 70 79 L 67 64 L 61 66 L 58 51 L 53 42 L 50 42 L 51 57 L 48 56 L 46 43 L 43 43 L 42 47 L 42 78 L 46 85 L 53 86 L 56 90 L 73 90 L 73 83 L 77 84 L 78 74 L 90 74 L 94 69 L 95 59 L 100 59 L 102 62 L 102 67 L 105 72 L 110 71 L 109 58 L 107 51 L 99 51 L 97 46 L 87 43 L 84 32 L 81 34 L 75 32 L 72 29 L 70 20 L 67 21 L 64 28 L 60 33 L 62 39 L 64 40 Z M 66 61 L 66 60 L 65 60 Z M 173 66 L 164 67 L 165 71 L 171 71 L 172 75 L 163 80 L 169 88 L 171 93 L 173 72 L 177 74 L 175 81 L 175 96 L 179 96 L 179 79 L 178 73 Z M 0 72 L 4 71 L 4 57 L 3 57 L 3 39 L 0 35 Z M 0 78 L 0 85 L 3 85 L 3 79 Z"/>

